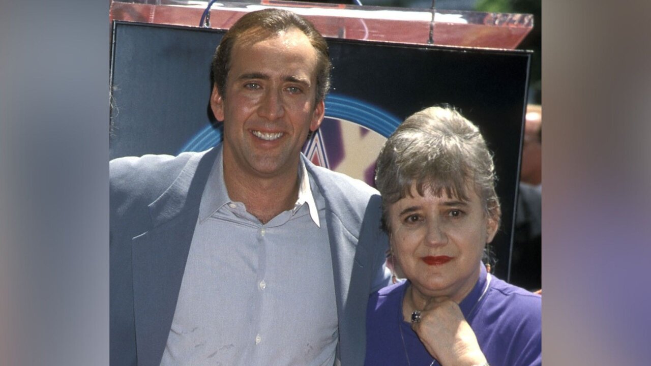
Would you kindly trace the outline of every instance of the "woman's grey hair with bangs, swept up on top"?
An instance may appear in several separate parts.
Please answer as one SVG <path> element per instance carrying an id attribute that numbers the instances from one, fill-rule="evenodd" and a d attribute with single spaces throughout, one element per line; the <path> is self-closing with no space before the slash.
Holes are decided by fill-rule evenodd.
<path id="1" fill-rule="evenodd" d="M 473 122 L 450 106 L 428 107 L 409 116 L 380 151 L 375 184 L 382 195 L 382 227 L 390 204 L 411 195 L 411 186 L 424 195 L 467 201 L 472 183 L 484 212 L 499 223 L 501 210 L 495 193 L 495 165 L 486 141 Z"/>

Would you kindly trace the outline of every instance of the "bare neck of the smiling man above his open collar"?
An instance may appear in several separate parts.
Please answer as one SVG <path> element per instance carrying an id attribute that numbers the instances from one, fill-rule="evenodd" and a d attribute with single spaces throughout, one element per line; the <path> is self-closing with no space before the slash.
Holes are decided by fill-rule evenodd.
<path id="1" fill-rule="evenodd" d="M 224 182 L 232 201 L 242 202 L 247 212 L 268 223 L 298 200 L 298 164 L 285 175 L 264 177 L 224 162 Z"/>

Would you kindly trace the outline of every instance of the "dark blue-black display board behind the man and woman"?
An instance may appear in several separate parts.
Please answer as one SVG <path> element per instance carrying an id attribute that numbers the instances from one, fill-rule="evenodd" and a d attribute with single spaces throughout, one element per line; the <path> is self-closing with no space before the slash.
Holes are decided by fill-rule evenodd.
<path id="1" fill-rule="evenodd" d="M 115 22 L 111 158 L 177 154 L 206 134 L 210 60 L 222 35 L 214 29 Z M 384 117 L 353 122 L 386 136 L 395 128 L 392 123 L 424 107 L 448 103 L 480 126 L 495 153 L 499 176 L 503 216 L 492 247 L 499 261 L 495 274 L 506 279 L 531 54 L 328 42 L 334 70 L 326 113 L 328 108 L 333 112 L 342 108 L 335 101 L 361 102 L 359 108 Z"/>

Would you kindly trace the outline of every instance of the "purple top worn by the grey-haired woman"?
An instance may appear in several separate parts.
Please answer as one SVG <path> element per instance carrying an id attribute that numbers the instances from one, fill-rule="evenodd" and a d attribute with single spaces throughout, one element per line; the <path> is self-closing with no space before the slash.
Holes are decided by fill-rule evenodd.
<path id="1" fill-rule="evenodd" d="M 402 317 L 402 299 L 408 286 L 409 281 L 396 283 L 370 296 L 365 365 L 432 364 L 434 358 Z M 488 275 L 481 264 L 479 280 L 459 307 L 488 363 L 529 366 L 542 365 L 541 301 L 540 295 Z"/>

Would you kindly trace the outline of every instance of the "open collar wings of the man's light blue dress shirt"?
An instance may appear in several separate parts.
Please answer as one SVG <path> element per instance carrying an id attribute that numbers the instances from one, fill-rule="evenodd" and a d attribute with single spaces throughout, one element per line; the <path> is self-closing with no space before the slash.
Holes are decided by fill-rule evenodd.
<path id="1" fill-rule="evenodd" d="M 230 203 L 229 192 L 226 190 L 226 183 L 224 182 L 224 161 L 223 161 L 223 145 L 219 144 L 217 147 L 217 156 L 215 163 L 210 169 L 208 175 L 208 182 L 206 188 L 201 196 L 201 204 L 199 204 L 199 219 L 204 221 L 210 218 L 215 211 L 219 210 L 221 206 Z M 318 207 L 314 201 L 314 195 L 310 186 L 310 178 L 307 173 L 307 167 L 302 159 L 299 160 L 299 186 L 298 186 L 298 200 L 294 205 L 294 212 L 307 203 L 307 208 L 310 212 L 310 218 L 317 227 L 321 227 L 319 220 Z"/>

